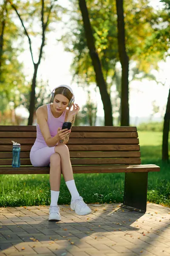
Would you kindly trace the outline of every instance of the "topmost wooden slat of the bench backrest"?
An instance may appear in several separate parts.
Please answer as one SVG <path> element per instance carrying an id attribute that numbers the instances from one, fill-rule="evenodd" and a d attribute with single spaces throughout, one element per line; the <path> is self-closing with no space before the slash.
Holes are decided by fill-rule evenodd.
<path id="1" fill-rule="evenodd" d="M 0 131 L 36 131 L 36 125 L 0 125 Z M 73 126 L 72 131 L 137 131 L 133 126 Z"/>

